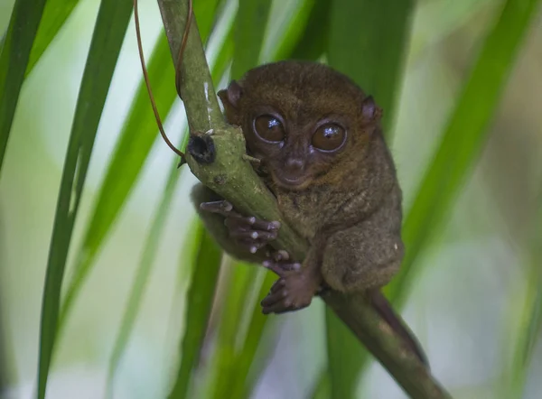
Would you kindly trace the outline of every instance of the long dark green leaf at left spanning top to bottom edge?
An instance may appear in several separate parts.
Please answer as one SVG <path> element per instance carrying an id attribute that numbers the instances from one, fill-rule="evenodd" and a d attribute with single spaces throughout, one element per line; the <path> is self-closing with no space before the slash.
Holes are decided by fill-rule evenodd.
<path id="1" fill-rule="evenodd" d="M 106 102 L 107 91 L 131 12 L 132 3 L 129 1 L 102 1 L 79 89 L 70 143 L 62 172 L 61 190 L 43 289 L 38 371 L 39 399 L 45 397 L 47 376 L 51 366 L 57 331 L 61 284 L 70 248 L 73 224 L 79 208 L 98 122 Z"/>

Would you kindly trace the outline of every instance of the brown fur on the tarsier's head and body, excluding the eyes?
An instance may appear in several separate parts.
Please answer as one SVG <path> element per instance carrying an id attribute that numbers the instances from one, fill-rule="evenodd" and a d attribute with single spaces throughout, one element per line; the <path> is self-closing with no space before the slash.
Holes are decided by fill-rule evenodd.
<path id="1" fill-rule="evenodd" d="M 310 303 L 321 285 L 365 292 L 387 284 L 404 254 L 401 190 L 380 128 L 381 111 L 372 98 L 327 66 L 297 61 L 249 70 L 219 95 L 228 122 L 242 127 L 248 154 L 261 160 L 257 172 L 276 195 L 285 221 L 311 244 L 302 268 L 310 270 L 303 272 L 307 292 L 294 295 L 293 301 Z M 282 118 L 283 144 L 258 139 L 254 120 L 266 112 Z M 340 150 L 312 147 L 315 124 L 322 119 L 344 127 Z M 288 176 L 301 178 L 290 185 Z M 202 200 L 201 189 L 195 197 Z M 217 227 L 217 215 L 201 216 L 230 254 L 264 260 L 263 251 L 239 251 L 225 237 L 223 223 Z"/>

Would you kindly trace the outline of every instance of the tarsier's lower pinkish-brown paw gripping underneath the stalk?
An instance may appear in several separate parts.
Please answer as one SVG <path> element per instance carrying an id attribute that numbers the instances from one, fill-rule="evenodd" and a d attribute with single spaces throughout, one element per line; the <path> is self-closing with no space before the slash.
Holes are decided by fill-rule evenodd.
<path id="1" fill-rule="evenodd" d="M 261 302 L 264 314 L 285 313 L 306 308 L 313 296 L 321 289 L 321 279 L 310 268 L 301 264 L 286 264 L 266 261 L 264 266 L 272 270 L 280 279 Z"/>

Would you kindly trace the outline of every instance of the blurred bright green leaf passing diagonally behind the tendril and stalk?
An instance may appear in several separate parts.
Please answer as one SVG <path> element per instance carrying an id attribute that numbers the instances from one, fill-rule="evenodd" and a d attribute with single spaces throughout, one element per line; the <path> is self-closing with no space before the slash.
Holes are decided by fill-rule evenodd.
<path id="1" fill-rule="evenodd" d="M 204 40 L 210 34 L 216 5 L 217 0 L 196 2 L 194 5 L 194 13 L 202 25 L 201 32 Z M 148 64 L 148 75 L 153 87 L 156 107 L 164 117 L 173 107 L 173 101 L 177 97 L 175 85 L 172 84 L 175 71 L 165 35 L 161 35 L 156 44 Z M 117 140 L 117 148 L 107 167 L 106 177 L 100 186 L 98 199 L 94 204 L 82 245 L 79 248 L 79 256 L 74 267 L 75 274 L 62 303 L 60 329 L 63 328 L 73 302 L 90 273 L 99 249 L 125 205 L 130 191 L 135 186 L 135 181 L 157 138 L 156 133 L 156 121 L 149 105 L 145 83 L 142 80 Z"/>

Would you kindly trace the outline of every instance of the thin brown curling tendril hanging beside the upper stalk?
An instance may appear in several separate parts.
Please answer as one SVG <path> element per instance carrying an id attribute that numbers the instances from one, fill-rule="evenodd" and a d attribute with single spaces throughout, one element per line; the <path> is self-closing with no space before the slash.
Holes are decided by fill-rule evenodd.
<path id="1" fill-rule="evenodd" d="M 141 60 L 141 69 L 143 70 L 143 77 L 145 79 L 145 86 L 149 94 L 149 99 L 151 100 L 151 106 L 153 107 L 154 118 L 156 119 L 156 125 L 158 125 L 158 130 L 160 135 L 164 139 L 165 144 L 168 145 L 173 151 L 182 158 L 183 163 L 185 157 L 184 153 L 175 147 L 172 142 L 169 140 L 167 135 L 164 132 L 164 126 L 162 125 L 162 119 L 158 113 L 158 108 L 156 107 L 156 102 L 154 101 L 153 89 L 151 88 L 151 83 L 149 81 L 149 75 L 146 70 L 145 56 L 143 55 L 143 44 L 141 43 L 141 32 L 139 29 L 139 14 L 137 13 L 137 0 L 134 0 L 134 20 L 135 20 L 135 36 L 137 39 L 137 50 L 139 51 L 139 60 Z M 182 64 L 182 54 L 186 47 L 186 42 L 188 40 L 188 32 L 190 31 L 190 25 L 192 23 L 192 0 L 188 2 L 188 16 L 186 19 L 186 26 L 184 27 L 184 32 L 182 33 L 182 42 L 181 48 L 179 49 L 179 55 L 177 57 L 177 65 L 175 66 L 175 88 L 177 88 L 177 94 L 181 97 L 181 64 Z M 182 97 L 181 97 L 182 98 Z M 180 165 L 181 165 L 180 164 Z"/>

